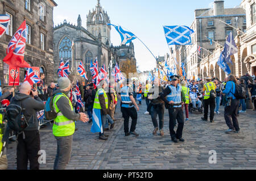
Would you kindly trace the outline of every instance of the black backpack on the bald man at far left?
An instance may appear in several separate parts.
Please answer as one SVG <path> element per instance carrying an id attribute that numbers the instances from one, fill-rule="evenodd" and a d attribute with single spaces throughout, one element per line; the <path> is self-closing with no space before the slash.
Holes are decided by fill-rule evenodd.
<path id="1" fill-rule="evenodd" d="M 17 101 L 15 99 L 6 108 L 7 125 L 17 133 L 23 132 L 28 127 L 28 121 L 24 116 L 25 110 L 25 108 L 22 108 L 21 100 Z"/>

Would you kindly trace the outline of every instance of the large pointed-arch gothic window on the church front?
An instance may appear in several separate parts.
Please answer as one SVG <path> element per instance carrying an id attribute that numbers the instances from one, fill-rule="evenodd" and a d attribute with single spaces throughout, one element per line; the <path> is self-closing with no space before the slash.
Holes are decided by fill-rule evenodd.
<path id="1" fill-rule="evenodd" d="M 59 46 L 59 59 L 63 58 L 64 61 L 72 59 L 72 41 L 68 37 L 64 37 L 64 39 L 60 42 Z"/>

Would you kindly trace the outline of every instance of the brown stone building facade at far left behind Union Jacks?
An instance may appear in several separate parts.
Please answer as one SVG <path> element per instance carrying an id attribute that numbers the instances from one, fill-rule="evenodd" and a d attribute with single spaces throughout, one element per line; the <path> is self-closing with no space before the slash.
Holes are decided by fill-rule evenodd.
<path id="1" fill-rule="evenodd" d="M 24 60 L 37 66 L 46 74 L 44 82 L 53 81 L 53 0 L 2 0 L 0 14 L 10 16 L 10 24 L 5 35 L 0 38 L 0 59 L 6 56 L 6 49 L 20 24 L 26 19 L 27 44 Z M 0 77 L 3 86 L 9 79 L 9 65 L 0 61 Z M 20 69 L 20 82 L 24 80 L 24 69 Z"/>

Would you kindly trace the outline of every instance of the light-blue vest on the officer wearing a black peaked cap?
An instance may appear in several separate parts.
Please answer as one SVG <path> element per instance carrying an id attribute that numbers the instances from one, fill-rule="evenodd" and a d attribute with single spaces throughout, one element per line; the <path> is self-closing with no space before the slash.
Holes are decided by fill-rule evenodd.
<path id="1" fill-rule="evenodd" d="M 171 90 L 171 93 L 167 95 L 168 102 L 173 101 L 174 104 L 180 104 L 180 106 L 174 106 L 174 107 L 181 107 L 181 86 L 177 85 L 177 87 L 174 86 L 168 86 Z"/>

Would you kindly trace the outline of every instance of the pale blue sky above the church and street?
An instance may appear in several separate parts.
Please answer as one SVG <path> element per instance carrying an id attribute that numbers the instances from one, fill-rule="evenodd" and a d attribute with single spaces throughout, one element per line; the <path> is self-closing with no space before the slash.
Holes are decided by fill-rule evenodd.
<path id="1" fill-rule="evenodd" d="M 195 9 L 213 7 L 214 0 L 100 0 L 101 6 L 108 12 L 110 22 L 133 32 L 151 50 L 154 56 L 170 53 L 164 36 L 163 26 L 185 25 L 190 27 L 195 19 Z M 55 0 L 53 10 L 55 25 L 67 22 L 77 25 L 79 14 L 82 26 L 86 28 L 86 15 L 95 9 L 97 0 Z M 240 6 L 242 0 L 225 0 L 224 7 Z M 112 27 L 111 42 L 114 46 L 121 38 Z M 140 71 L 156 67 L 155 58 L 138 39 L 133 40 L 135 58 Z"/>

